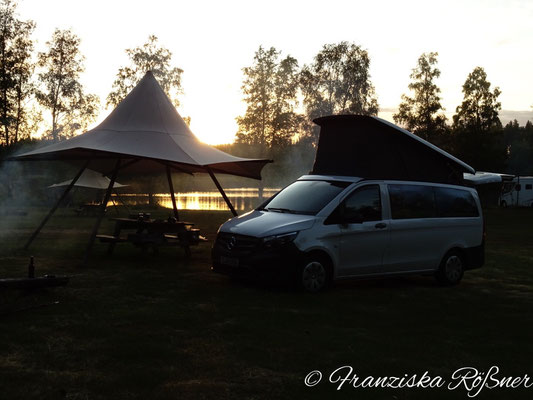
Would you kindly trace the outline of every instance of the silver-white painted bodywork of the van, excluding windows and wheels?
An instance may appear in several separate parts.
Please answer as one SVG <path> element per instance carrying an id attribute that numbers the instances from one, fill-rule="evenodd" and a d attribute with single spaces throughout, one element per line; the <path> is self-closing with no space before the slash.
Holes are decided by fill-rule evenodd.
<path id="1" fill-rule="evenodd" d="M 316 215 L 255 210 L 229 220 L 221 226 L 220 232 L 255 238 L 298 232 L 292 242 L 297 251 L 301 254 L 327 254 L 334 279 L 433 272 L 451 249 L 480 248 L 482 251 L 483 215 L 475 189 L 438 183 L 366 181 L 338 176 L 308 175 L 300 180 L 342 181 L 347 183 L 347 187 Z M 478 215 L 393 219 L 389 185 L 420 185 L 469 192 Z M 339 205 L 365 186 L 373 186 L 374 193 L 380 195 L 381 220 L 332 223 L 328 218 Z"/>

